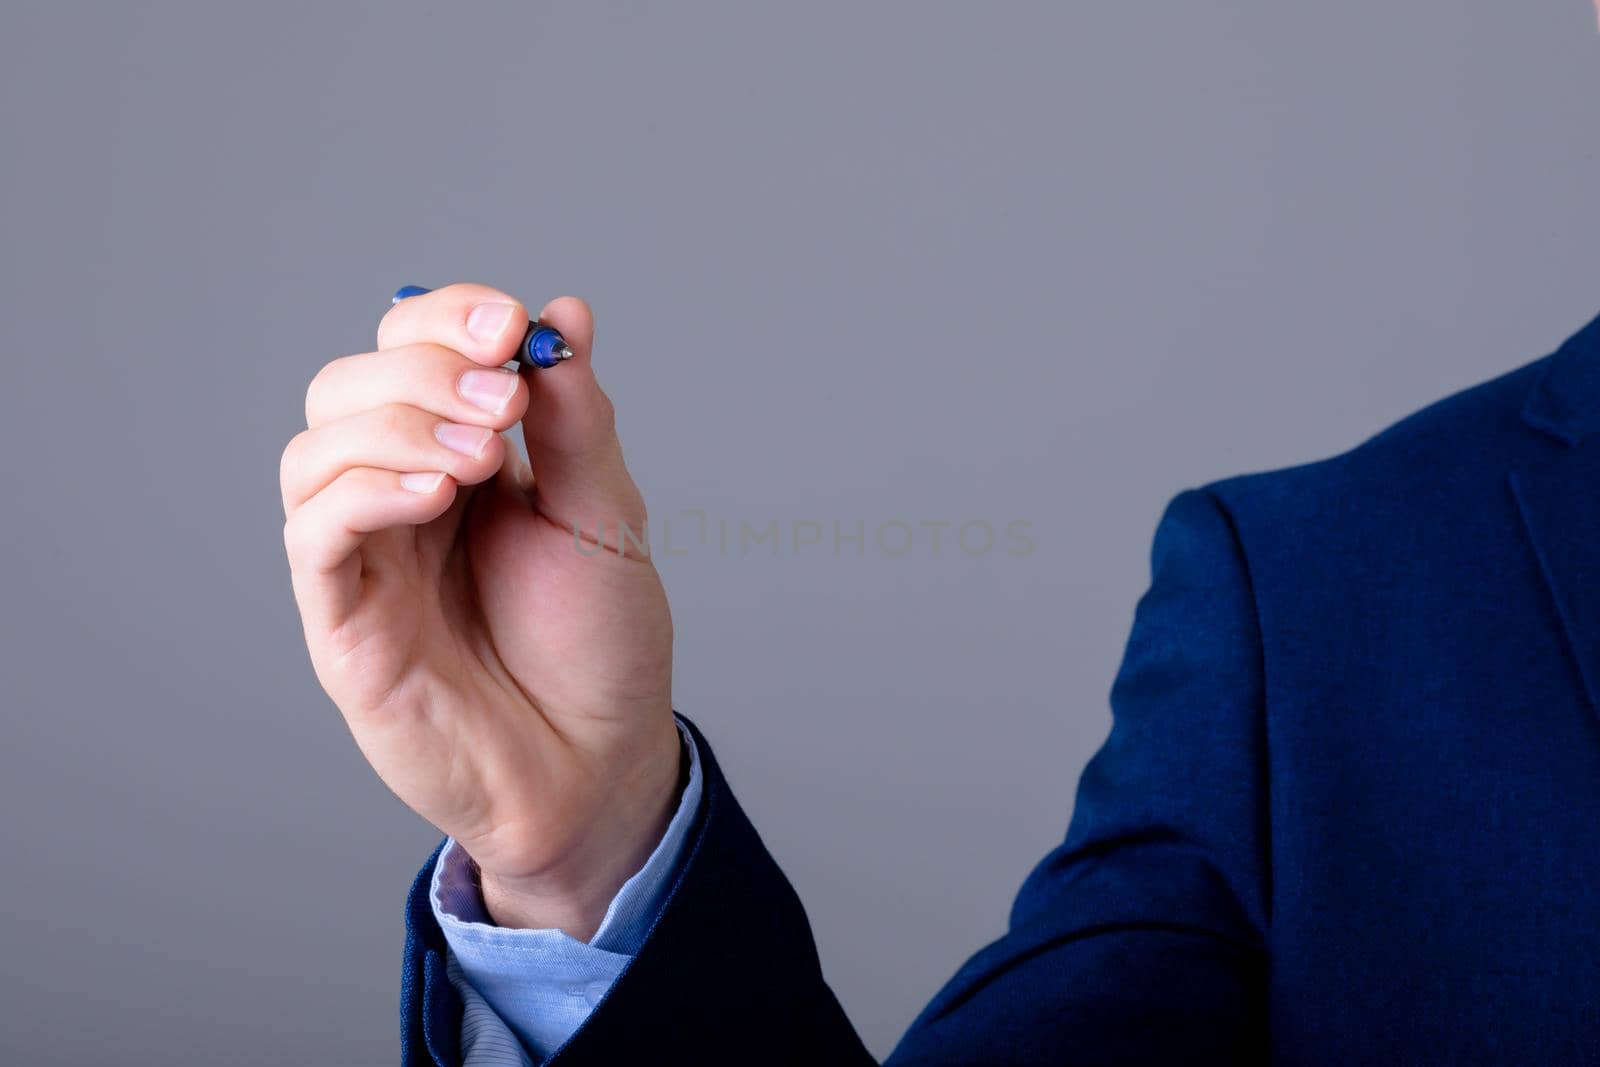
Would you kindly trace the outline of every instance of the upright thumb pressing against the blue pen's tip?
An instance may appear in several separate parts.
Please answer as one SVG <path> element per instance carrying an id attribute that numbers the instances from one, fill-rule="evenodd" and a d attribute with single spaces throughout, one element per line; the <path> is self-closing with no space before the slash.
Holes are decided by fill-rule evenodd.
<path id="1" fill-rule="evenodd" d="M 590 354 L 595 322 L 589 304 L 562 296 L 539 312 L 539 322 L 560 331 L 573 358 L 547 368 L 526 370 L 528 413 L 522 435 L 538 509 L 568 530 L 622 544 L 618 523 L 645 539 L 645 501 L 622 462 L 616 437 L 616 411 L 595 381 Z"/>

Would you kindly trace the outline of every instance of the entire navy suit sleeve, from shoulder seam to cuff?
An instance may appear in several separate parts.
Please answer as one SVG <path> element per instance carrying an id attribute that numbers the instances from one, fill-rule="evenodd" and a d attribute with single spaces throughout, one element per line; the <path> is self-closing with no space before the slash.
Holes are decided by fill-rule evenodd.
<path id="1" fill-rule="evenodd" d="M 891 1067 L 1264 1057 L 1261 640 L 1243 555 L 1210 493 L 1171 502 L 1152 573 L 1112 686 L 1110 737 L 1083 773 L 1066 841 Z M 672 889 L 638 955 L 549 1062 L 872 1064 L 798 897 L 690 729 L 704 792 Z M 405 1048 L 410 1062 L 451 1064 L 459 1000 L 432 958 L 442 937 L 426 889 L 408 915 Z"/>

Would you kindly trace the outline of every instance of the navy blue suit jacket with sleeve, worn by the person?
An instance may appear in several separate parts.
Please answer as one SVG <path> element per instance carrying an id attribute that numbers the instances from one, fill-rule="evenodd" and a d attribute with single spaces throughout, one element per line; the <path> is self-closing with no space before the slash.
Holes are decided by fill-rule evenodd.
<path id="1" fill-rule="evenodd" d="M 1168 506 L 1066 841 L 890 1062 L 1600 1062 L 1597 709 L 1600 320 Z M 554 1062 L 870 1064 L 696 741 L 672 894 Z M 453 1064 L 429 869 L 403 1040 Z"/>

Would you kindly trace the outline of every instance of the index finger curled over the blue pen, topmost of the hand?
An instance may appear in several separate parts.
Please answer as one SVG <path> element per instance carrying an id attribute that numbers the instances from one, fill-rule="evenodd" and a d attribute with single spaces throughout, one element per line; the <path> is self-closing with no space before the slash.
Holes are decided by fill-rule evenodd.
<path id="1" fill-rule="evenodd" d="M 514 296 L 486 285 L 446 285 L 408 296 L 378 323 L 378 349 L 442 344 L 474 363 L 509 362 L 528 331 L 528 309 Z"/>

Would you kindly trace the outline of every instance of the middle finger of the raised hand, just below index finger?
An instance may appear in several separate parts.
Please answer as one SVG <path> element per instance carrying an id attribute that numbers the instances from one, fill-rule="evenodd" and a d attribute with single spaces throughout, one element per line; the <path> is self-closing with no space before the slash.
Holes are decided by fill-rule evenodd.
<path id="1" fill-rule="evenodd" d="M 421 299 L 427 298 L 413 296 L 400 306 Z M 306 390 L 306 426 L 323 426 L 390 403 L 504 430 L 526 410 L 528 386 L 514 370 L 483 366 L 432 342 L 363 352 L 334 360 L 317 373 Z"/>

